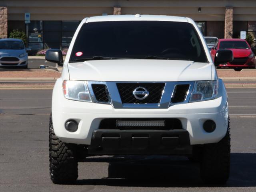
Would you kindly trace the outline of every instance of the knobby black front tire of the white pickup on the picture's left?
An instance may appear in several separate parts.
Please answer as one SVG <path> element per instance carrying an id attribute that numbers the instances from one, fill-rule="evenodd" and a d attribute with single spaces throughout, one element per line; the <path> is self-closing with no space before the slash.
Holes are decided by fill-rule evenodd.
<path id="1" fill-rule="evenodd" d="M 62 142 L 55 134 L 50 115 L 49 126 L 50 177 L 55 184 L 73 184 L 78 178 L 76 145 Z"/>

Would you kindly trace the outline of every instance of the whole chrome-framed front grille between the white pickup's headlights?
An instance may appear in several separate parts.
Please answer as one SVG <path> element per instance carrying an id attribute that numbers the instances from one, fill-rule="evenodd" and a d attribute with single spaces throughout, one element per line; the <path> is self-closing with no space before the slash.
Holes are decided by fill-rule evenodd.
<path id="1" fill-rule="evenodd" d="M 96 82 L 88 81 L 92 102 L 114 108 L 161 108 L 188 103 L 194 81 L 188 82 Z M 140 88 L 140 89 L 138 89 Z M 141 88 L 143 91 L 141 91 Z M 138 91 L 136 91 L 138 90 Z M 136 92 L 135 92 L 136 91 Z M 136 93 L 136 94 L 135 94 Z M 146 97 L 136 95 L 147 94 Z"/>

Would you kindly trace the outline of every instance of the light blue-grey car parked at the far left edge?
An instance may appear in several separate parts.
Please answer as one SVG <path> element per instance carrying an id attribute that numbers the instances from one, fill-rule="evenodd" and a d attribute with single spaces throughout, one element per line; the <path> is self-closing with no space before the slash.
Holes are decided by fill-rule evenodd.
<path id="1" fill-rule="evenodd" d="M 28 68 L 28 54 L 20 39 L 0 39 L 0 67 Z"/>

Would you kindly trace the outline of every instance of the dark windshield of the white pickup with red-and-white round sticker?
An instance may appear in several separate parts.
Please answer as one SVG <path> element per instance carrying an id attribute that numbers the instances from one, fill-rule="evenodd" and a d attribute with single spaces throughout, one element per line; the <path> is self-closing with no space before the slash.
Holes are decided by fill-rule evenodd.
<path id="1" fill-rule="evenodd" d="M 173 59 L 208 62 L 193 25 L 185 22 L 90 22 L 80 29 L 70 62 L 90 59 Z"/>

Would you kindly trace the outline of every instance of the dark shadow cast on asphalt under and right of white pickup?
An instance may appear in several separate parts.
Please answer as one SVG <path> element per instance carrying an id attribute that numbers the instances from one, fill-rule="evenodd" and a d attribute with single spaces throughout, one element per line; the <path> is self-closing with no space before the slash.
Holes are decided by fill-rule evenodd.
<path id="1" fill-rule="evenodd" d="M 189 162 L 186 157 L 93 157 L 84 162 L 108 162 L 108 178 L 77 180 L 77 185 L 220 187 L 203 184 L 199 164 Z M 256 186 L 256 153 L 232 153 L 230 178 L 222 187 L 251 186 Z"/>

